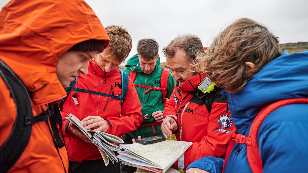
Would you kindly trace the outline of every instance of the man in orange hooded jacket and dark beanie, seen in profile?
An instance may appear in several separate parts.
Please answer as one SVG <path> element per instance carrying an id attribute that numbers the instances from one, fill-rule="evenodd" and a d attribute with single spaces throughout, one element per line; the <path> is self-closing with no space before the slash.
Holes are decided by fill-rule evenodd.
<path id="1" fill-rule="evenodd" d="M 68 172 L 50 104 L 66 97 L 64 87 L 86 75 L 88 61 L 108 44 L 101 22 L 82 0 L 13 0 L 3 7 L 0 172 Z M 18 139 L 23 132 L 29 135 L 24 143 Z"/>

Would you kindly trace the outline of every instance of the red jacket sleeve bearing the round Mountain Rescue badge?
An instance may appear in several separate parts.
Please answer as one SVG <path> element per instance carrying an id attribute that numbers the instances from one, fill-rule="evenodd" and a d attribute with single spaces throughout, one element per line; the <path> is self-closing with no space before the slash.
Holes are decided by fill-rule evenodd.
<path id="1" fill-rule="evenodd" d="M 213 156 L 217 158 L 224 158 L 232 133 L 236 133 L 234 124 L 229 127 L 228 131 L 231 133 L 217 131 L 221 128 L 217 120 L 221 115 L 230 115 L 226 112 L 227 103 L 213 103 L 212 110 L 209 116 L 209 124 L 207 134 L 202 138 L 201 142 L 194 142 L 193 145 L 184 153 L 184 169 L 186 167 L 204 156 Z M 179 159 L 180 162 L 180 159 Z"/>

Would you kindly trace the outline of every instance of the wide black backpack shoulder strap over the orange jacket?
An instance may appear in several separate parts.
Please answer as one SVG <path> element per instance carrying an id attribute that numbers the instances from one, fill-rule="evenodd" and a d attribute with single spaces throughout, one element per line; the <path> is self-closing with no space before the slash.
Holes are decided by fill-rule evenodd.
<path id="1" fill-rule="evenodd" d="M 7 172 L 25 150 L 32 132 L 32 125 L 46 120 L 46 116 L 33 119 L 31 100 L 17 75 L 0 60 L 0 76 L 10 90 L 16 105 L 16 119 L 10 136 L 0 148 L 0 172 Z M 1 112 L 5 116 L 5 112 Z M 48 117 L 47 117 L 48 118 Z"/>

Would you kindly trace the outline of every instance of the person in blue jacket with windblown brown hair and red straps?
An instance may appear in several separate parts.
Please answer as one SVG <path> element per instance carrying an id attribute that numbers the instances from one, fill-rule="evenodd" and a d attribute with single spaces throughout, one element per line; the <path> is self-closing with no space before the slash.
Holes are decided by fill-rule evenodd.
<path id="1" fill-rule="evenodd" d="M 308 97 L 308 50 L 281 53 L 278 42 L 265 26 L 242 18 L 214 38 L 208 54 L 199 56 L 197 69 L 225 88 L 233 123 L 246 137 L 265 105 Z M 307 172 L 307 132 L 308 104 L 282 106 L 265 117 L 257 134 L 263 172 Z M 246 149 L 235 142 L 225 173 L 252 172 Z M 186 173 L 222 172 L 223 164 L 224 159 L 205 156 Z"/>

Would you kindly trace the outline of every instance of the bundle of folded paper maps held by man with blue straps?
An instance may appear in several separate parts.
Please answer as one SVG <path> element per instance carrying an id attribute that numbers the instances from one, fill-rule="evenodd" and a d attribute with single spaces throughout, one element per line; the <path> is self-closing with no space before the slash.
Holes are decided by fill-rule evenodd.
<path id="1" fill-rule="evenodd" d="M 111 160 L 113 164 L 114 161 L 118 162 L 118 159 L 113 151 L 121 151 L 122 147 L 115 145 L 124 143 L 121 138 L 105 132 L 87 130 L 80 124 L 80 120 L 73 114 L 68 114 L 68 117 L 65 118 L 74 123 L 81 130 L 81 132 L 83 132 L 91 140 L 91 142 L 98 147 L 106 166 L 109 164 L 109 160 Z"/>

